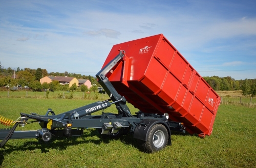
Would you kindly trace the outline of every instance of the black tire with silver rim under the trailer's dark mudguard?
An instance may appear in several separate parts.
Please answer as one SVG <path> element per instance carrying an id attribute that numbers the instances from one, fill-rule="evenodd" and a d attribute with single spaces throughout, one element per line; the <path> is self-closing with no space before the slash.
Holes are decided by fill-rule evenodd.
<path id="1" fill-rule="evenodd" d="M 153 153 L 163 150 L 168 143 L 168 131 L 162 124 L 155 124 L 149 130 L 146 141 L 142 142 L 144 152 Z"/>

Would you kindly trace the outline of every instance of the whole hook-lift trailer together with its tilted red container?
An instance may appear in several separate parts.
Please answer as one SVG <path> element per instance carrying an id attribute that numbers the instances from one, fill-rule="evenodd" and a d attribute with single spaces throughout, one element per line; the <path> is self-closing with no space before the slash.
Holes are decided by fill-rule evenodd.
<path id="1" fill-rule="evenodd" d="M 84 128 L 96 128 L 100 134 L 118 136 L 123 131 L 141 142 L 144 152 L 162 150 L 170 142 L 172 131 L 189 132 L 200 137 L 210 135 L 220 104 L 220 97 L 162 35 L 155 35 L 112 47 L 98 82 L 110 99 L 55 115 L 20 113 L 11 121 L 0 116 L 10 129 L 0 129 L 0 146 L 9 139 L 80 136 Z M 139 111 L 132 115 L 126 102 Z M 115 105 L 115 113 L 92 115 Z M 38 122 L 41 129 L 15 131 L 15 128 Z"/>

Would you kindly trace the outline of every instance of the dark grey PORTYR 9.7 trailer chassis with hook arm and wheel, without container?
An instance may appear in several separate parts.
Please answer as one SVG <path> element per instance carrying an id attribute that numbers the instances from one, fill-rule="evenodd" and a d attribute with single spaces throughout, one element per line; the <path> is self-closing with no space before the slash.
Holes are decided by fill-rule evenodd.
<path id="1" fill-rule="evenodd" d="M 126 105 L 125 97 L 117 93 L 108 77 L 106 77 L 106 74 L 117 64 L 124 62 L 125 58 L 124 50 L 120 50 L 119 54 L 96 75 L 98 82 L 110 96 L 110 99 L 84 105 L 59 115 L 55 115 L 54 111 L 49 108 L 46 115 L 20 113 L 20 120 L 16 122 L 0 119 L 6 125 L 14 123 L 11 129 L 0 129 L 0 139 L 3 140 L 0 146 L 3 147 L 9 139 L 42 138 L 43 141 L 49 142 L 52 137 L 80 136 L 83 134 L 84 128 L 96 128 L 100 130 L 101 134 L 110 136 L 117 136 L 123 130 L 127 130 L 133 134 L 134 138 L 141 140 L 144 152 L 162 150 L 168 141 L 169 144 L 172 144 L 170 142 L 170 131 L 184 133 L 183 123 L 169 121 L 167 113 L 158 115 L 138 111 L 136 115 L 132 115 Z M 110 107 L 112 104 L 116 105 L 118 114 L 104 113 L 102 111 L 102 115 L 91 115 L 96 111 Z M 18 125 L 25 126 L 31 122 L 38 122 L 41 129 L 15 131 Z"/>

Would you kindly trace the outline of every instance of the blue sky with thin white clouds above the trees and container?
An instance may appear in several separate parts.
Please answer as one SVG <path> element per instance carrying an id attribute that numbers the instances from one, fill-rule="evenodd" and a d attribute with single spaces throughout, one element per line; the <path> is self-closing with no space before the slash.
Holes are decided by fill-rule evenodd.
<path id="1" fill-rule="evenodd" d="M 256 78 L 255 1 L 0 1 L 5 68 L 95 75 L 114 44 L 163 34 L 201 76 Z"/>

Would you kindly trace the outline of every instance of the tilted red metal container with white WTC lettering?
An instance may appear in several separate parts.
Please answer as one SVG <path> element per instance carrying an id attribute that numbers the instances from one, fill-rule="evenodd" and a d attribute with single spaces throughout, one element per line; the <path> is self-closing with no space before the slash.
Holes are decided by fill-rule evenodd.
<path id="1" fill-rule="evenodd" d="M 119 49 L 126 57 L 107 76 L 120 95 L 144 113 L 168 113 L 191 134 L 211 134 L 220 97 L 162 34 L 114 45 L 103 67 Z"/>

